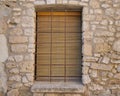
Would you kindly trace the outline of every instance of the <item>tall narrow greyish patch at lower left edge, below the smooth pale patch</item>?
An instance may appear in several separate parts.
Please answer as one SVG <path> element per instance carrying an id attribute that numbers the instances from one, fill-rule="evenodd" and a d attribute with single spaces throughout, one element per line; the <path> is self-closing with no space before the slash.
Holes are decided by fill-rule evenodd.
<path id="1" fill-rule="evenodd" d="M 4 67 L 4 64 L 0 62 L 0 93 L 7 92 L 7 75 Z"/>

